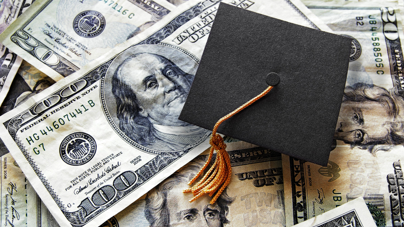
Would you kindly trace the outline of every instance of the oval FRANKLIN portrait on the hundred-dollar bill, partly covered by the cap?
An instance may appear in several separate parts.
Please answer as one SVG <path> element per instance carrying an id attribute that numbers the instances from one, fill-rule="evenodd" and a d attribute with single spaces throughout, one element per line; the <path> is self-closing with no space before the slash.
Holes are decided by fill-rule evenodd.
<path id="1" fill-rule="evenodd" d="M 113 97 L 109 113 L 116 113 L 115 123 L 126 137 L 163 152 L 184 150 L 208 137 L 210 131 L 178 120 L 197 67 L 191 57 L 144 45 L 129 48 L 111 65 L 105 97 Z"/>

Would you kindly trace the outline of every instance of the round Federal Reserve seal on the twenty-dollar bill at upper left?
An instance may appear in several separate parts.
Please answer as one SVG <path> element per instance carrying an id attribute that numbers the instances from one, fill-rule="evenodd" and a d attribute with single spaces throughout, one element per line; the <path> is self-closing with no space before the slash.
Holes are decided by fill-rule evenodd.
<path id="1" fill-rule="evenodd" d="M 79 36 L 92 38 L 104 30 L 105 18 L 97 11 L 84 11 L 74 18 L 73 28 Z"/>

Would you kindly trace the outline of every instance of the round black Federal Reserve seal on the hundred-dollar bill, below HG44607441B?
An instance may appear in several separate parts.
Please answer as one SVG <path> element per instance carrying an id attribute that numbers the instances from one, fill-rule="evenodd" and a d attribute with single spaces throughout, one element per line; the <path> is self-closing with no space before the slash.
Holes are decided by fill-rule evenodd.
<path id="1" fill-rule="evenodd" d="M 60 144 L 60 157 L 72 166 L 80 166 L 95 155 L 97 144 L 92 136 L 84 132 L 75 132 L 63 139 Z"/>

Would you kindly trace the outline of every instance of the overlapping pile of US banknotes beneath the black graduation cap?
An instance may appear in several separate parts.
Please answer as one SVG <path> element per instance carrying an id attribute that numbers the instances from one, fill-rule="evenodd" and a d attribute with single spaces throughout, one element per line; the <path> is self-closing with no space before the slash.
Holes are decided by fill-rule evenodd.
<path id="1" fill-rule="evenodd" d="M 229 185 L 190 203 L 211 131 L 178 116 L 220 2 L 351 38 L 349 70 L 327 166 L 224 136 Z M 2 226 L 404 226 L 402 1 L 0 8 Z"/>

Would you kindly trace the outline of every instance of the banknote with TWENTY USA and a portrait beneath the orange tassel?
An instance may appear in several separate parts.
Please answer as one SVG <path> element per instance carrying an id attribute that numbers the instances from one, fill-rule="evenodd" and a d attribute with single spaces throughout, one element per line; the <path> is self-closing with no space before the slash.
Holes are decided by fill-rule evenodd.
<path id="1" fill-rule="evenodd" d="M 227 150 L 233 176 L 215 205 L 209 204 L 208 196 L 189 203 L 191 195 L 181 192 L 206 162 L 205 151 L 100 227 L 284 227 L 281 154 L 241 141 L 228 144 Z M 30 197 L 28 227 L 59 226 L 28 187 Z"/>

